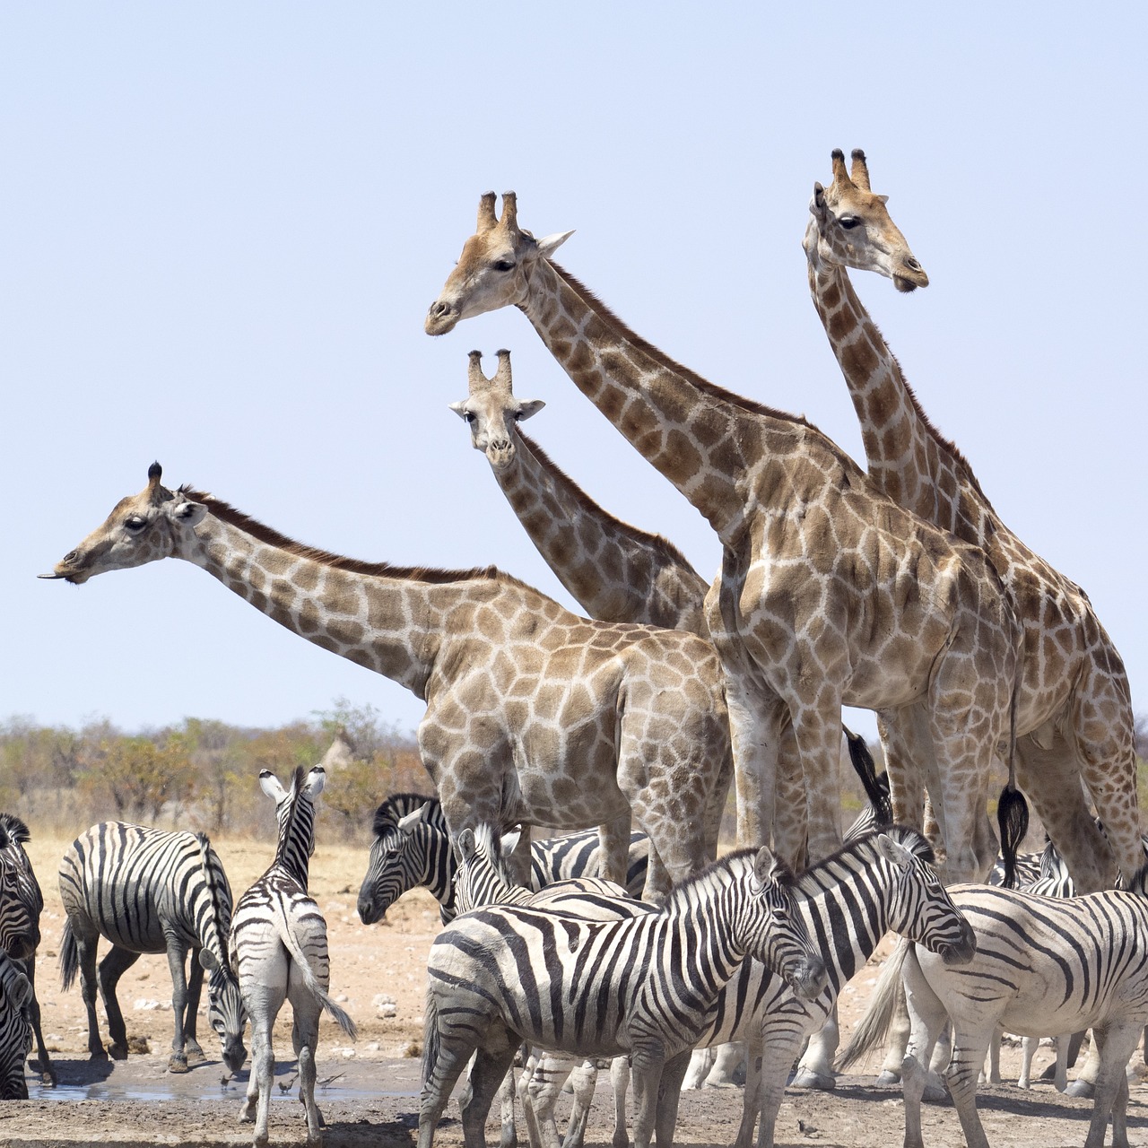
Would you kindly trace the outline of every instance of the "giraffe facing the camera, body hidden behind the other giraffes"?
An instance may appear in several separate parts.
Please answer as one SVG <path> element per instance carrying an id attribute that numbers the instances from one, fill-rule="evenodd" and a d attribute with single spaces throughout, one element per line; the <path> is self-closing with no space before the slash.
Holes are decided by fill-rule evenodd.
<path id="1" fill-rule="evenodd" d="M 450 409 L 471 429 L 506 501 L 558 580 L 590 618 L 644 622 L 729 642 L 713 587 L 661 535 L 607 513 L 565 474 L 520 424 L 545 406 L 514 395 L 510 351 L 499 350 L 488 379 L 482 352 L 471 351 L 467 397 Z M 783 735 L 774 840 L 794 869 L 805 867 L 805 783 L 792 727 Z M 792 789 L 792 792 L 790 792 Z M 627 827 L 627 832 L 628 832 Z"/>

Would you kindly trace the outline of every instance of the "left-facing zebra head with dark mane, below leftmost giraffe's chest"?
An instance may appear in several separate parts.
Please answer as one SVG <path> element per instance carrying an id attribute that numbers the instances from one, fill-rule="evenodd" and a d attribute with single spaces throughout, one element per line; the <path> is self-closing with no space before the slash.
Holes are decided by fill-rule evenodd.
<path id="1" fill-rule="evenodd" d="M 365 925 L 381 921 L 387 909 L 417 885 L 428 885 L 443 907 L 449 903 L 452 909 L 450 839 L 444 830 L 425 823 L 430 801 L 397 819 L 383 816 L 386 806 L 383 802 L 375 815 L 375 837 L 359 886 L 359 920 Z"/>

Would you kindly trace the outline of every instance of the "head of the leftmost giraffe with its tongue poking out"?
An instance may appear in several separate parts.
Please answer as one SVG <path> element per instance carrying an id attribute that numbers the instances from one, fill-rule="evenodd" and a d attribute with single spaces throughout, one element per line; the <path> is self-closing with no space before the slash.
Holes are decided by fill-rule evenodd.
<path id="1" fill-rule="evenodd" d="M 162 476 L 163 467 L 153 463 L 147 486 L 138 495 L 122 498 L 102 526 L 68 551 L 53 573 L 40 577 L 79 585 L 93 574 L 142 566 L 177 553 L 181 540 L 203 521 L 207 507 L 180 490 L 169 490 L 160 482 Z"/>

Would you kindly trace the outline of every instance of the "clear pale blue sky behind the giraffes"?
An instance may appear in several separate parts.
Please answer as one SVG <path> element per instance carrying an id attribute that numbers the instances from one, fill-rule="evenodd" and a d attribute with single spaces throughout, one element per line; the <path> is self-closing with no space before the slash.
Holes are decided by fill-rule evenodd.
<path id="1" fill-rule="evenodd" d="M 569 604 L 447 409 L 509 347 L 529 430 L 705 573 L 707 525 L 526 319 L 422 316 L 488 188 L 634 328 L 860 435 L 800 239 L 863 147 L 932 286 L 863 298 L 1148 708 L 1141 6 L 0 7 L 0 716 L 276 724 L 421 704 L 165 561 L 38 582 L 158 459 L 304 542 L 497 564 Z"/>

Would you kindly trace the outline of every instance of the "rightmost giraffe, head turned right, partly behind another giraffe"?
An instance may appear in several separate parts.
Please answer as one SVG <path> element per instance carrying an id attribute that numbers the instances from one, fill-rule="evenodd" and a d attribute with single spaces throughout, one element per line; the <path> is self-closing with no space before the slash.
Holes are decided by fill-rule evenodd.
<path id="1" fill-rule="evenodd" d="M 1000 574 L 1024 633 L 1018 783 L 1081 892 L 1110 886 L 1117 866 L 1131 878 L 1145 852 L 1124 665 L 1084 591 L 1000 520 L 968 460 L 906 382 L 847 269 L 877 271 L 901 292 L 926 286 L 928 276 L 890 218 L 887 196 L 871 192 L 864 153 L 853 152 L 851 176 L 835 150 L 832 169 L 828 188 L 814 185 L 804 247 L 814 307 L 861 422 L 869 475 L 901 506 L 983 550 Z M 891 763 L 912 753 L 895 744 L 898 732 L 886 729 Z M 894 802 L 894 815 L 903 812 Z"/>

